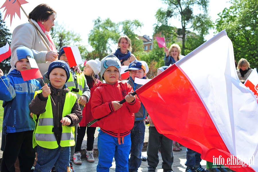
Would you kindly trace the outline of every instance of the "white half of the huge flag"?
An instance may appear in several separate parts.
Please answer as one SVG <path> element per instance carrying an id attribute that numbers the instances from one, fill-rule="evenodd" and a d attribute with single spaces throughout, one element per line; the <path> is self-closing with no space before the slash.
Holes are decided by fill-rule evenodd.
<path id="1" fill-rule="evenodd" d="M 230 153 L 248 163 L 257 152 L 258 105 L 238 79 L 232 42 L 225 30 L 176 65 L 189 77 Z"/>

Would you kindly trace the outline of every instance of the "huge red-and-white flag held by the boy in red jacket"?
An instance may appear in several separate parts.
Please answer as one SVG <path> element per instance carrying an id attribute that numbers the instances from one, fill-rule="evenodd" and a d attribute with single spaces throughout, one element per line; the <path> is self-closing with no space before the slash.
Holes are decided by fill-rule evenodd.
<path id="1" fill-rule="evenodd" d="M 258 104 L 225 30 L 136 90 L 159 133 L 234 171 L 258 171 Z"/>

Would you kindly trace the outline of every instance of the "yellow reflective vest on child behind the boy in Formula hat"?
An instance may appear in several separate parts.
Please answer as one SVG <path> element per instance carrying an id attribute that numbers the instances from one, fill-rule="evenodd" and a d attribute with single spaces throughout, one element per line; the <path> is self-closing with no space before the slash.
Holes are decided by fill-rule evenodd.
<path id="1" fill-rule="evenodd" d="M 70 78 L 68 81 L 65 83 L 65 85 L 72 91 L 73 88 L 79 89 L 79 92 L 74 92 L 77 95 L 77 98 L 79 99 L 81 95 L 83 94 L 83 88 L 84 88 L 84 83 L 85 83 L 85 76 L 83 73 L 79 74 L 76 72 L 77 75 L 77 87 L 75 87 L 74 81 L 73 81 L 73 75 L 70 72 Z"/>

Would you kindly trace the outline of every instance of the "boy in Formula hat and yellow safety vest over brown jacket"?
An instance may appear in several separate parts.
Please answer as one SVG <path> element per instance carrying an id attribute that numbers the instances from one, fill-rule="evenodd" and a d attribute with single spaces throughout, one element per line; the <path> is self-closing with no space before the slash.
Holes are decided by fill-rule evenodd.
<path id="1" fill-rule="evenodd" d="M 74 126 L 82 119 L 77 95 L 65 85 L 70 77 L 63 60 L 53 61 L 45 84 L 29 105 L 36 122 L 33 147 L 37 145 L 38 161 L 34 171 L 71 171 L 70 146 L 75 145 Z"/>

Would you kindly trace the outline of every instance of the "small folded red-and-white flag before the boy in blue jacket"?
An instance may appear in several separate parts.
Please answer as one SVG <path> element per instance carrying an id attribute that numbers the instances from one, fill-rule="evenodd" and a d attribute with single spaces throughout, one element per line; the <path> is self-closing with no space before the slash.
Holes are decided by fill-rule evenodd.
<path id="1" fill-rule="evenodd" d="M 30 62 L 31 69 L 21 71 L 21 76 L 24 81 L 28 81 L 36 78 L 43 78 L 40 70 L 38 69 L 38 64 L 34 58 L 28 58 Z"/>

